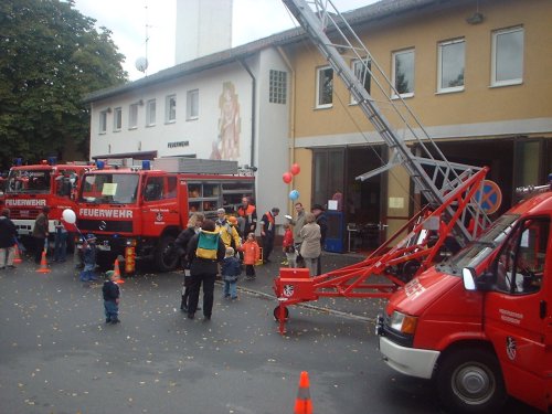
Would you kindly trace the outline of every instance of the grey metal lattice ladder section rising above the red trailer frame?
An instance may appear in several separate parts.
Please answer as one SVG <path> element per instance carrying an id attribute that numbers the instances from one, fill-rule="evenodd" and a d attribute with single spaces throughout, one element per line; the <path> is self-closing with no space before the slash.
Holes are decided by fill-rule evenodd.
<path id="1" fill-rule="evenodd" d="M 395 89 L 393 83 L 390 82 L 330 0 L 283 1 L 326 57 L 335 73 L 342 79 L 375 131 L 392 150 L 390 163 L 374 173 L 382 172 L 399 163 L 404 166 L 417 190 L 425 197 L 429 205 L 438 206 L 444 204 L 447 198 L 454 197 L 455 191 L 461 187 L 467 178 L 481 170 L 478 167 L 453 163 L 446 160 L 401 94 Z M 329 36 L 332 39 L 330 40 Z M 344 61 L 344 53 L 362 62 L 363 70 L 360 76 Z M 386 107 L 391 109 L 392 118 L 395 121 L 394 126 L 382 114 L 375 99 L 364 88 L 363 76 L 370 76 L 378 92 L 383 96 Z M 420 156 L 412 153 L 406 146 L 406 139 L 418 145 L 422 152 Z M 374 173 L 369 172 L 357 179 L 364 180 Z M 455 214 L 454 208 L 446 209 L 445 214 L 452 217 Z M 463 214 L 475 217 L 477 225 L 486 226 L 489 222 L 476 200 L 468 203 Z M 455 235 L 460 245 L 470 241 L 474 234 L 480 230 L 475 229 L 470 233 L 465 224 L 465 220 L 458 220 L 455 227 Z"/>

